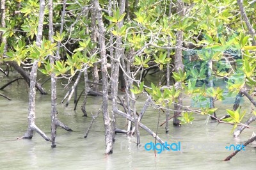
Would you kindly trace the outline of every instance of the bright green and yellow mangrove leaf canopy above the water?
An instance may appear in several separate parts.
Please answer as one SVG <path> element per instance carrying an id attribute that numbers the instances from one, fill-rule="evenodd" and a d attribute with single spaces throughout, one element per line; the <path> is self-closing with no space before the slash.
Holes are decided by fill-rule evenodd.
<path id="1" fill-rule="evenodd" d="M 173 56 L 177 43 L 176 33 L 183 31 L 186 42 L 183 51 L 188 52 L 190 60 L 186 63 L 184 59 L 184 71 L 172 72 L 174 81 L 180 82 L 179 86 L 173 83 L 170 87 L 164 87 L 158 86 L 159 82 L 151 82 L 148 87 L 147 83 L 140 79 L 138 86 L 130 87 L 131 93 L 140 95 L 147 92 L 155 104 L 163 109 L 166 106 L 172 107 L 182 94 L 200 104 L 200 113 L 204 115 L 212 114 L 218 109 L 218 106 L 209 107 L 209 98 L 216 102 L 226 97 L 234 97 L 244 87 L 250 87 L 252 93 L 256 87 L 256 46 L 252 45 L 253 37 L 243 29 L 246 26 L 239 15 L 236 1 L 184 0 L 186 8 L 189 9 L 184 18 L 180 18 L 176 10 L 169 9 L 167 2 L 141 0 L 134 7 L 134 1 L 129 1 L 129 13 L 125 11 L 120 14 L 118 6 L 115 6 L 115 10 L 107 9 L 108 1 L 100 1 L 101 8 L 104 8 L 102 15 L 106 27 L 108 56 L 113 58 L 110 56 L 110 49 L 115 47 L 115 40 L 121 38 L 124 50 L 122 59 L 134 66 L 131 77 L 137 77 L 140 70 L 154 66 L 166 73 L 167 66 L 175 64 Z M 3 37 L 7 38 L 8 52 L 4 58 L 2 43 L 0 63 L 17 61 L 19 65 L 31 65 L 38 59 L 40 72 L 45 75 L 55 73 L 59 77 L 72 77 L 84 68 L 91 68 L 93 63 L 99 60 L 101 49 L 99 42 L 95 42 L 90 36 L 93 31 L 92 16 L 88 14 L 90 1 L 68 1 L 64 30 L 61 30 L 60 24 L 62 3 L 59 0 L 54 1 L 56 6 L 53 43 L 46 38 L 49 34 L 49 11 L 45 8 L 44 40 L 41 47 L 37 47 L 35 39 L 39 1 L 8 1 L 6 27 L 0 27 Z M 252 22 L 255 5 L 249 4 L 248 1 L 245 1 L 244 5 Z M 13 15 L 15 11 L 20 13 Z M 121 22 L 124 22 L 122 26 Z M 109 44 L 110 40 L 112 44 Z M 189 44 L 195 47 L 189 49 Z M 56 58 L 54 64 L 49 61 L 49 55 Z M 212 63 L 212 70 L 209 69 L 209 63 Z M 227 93 L 226 89 L 209 87 L 209 81 L 217 79 L 227 79 Z M 204 102 L 207 103 L 203 104 Z M 241 113 L 240 109 L 227 112 L 231 116 L 226 120 L 229 123 L 240 123 L 245 113 Z M 180 118 L 181 123 L 191 123 L 193 120 L 192 112 L 184 112 Z"/>

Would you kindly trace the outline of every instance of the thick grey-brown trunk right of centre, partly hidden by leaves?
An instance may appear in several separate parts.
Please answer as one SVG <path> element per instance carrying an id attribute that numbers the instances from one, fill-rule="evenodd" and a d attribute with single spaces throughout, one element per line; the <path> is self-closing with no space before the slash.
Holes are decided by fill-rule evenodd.
<path id="1" fill-rule="evenodd" d="M 180 17 L 184 16 L 184 3 L 181 0 L 177 1 L 177 13 Z M 179 72 L 179 70 L 184 70 L 184 65 L 182 63 L 182 41 L 183 41 L 183 31 L 177 31 L 176 35 L 176 50 L 175 50 L 175 72 Z M 176 82 L 175 86 L 180 88 L 181 82 Z M 177 97 L 177 102 L 174 104 L 174 115 L 177 115 L 173 118 L 173 125 L 180 126 L 180 120 L 178 119 L 181 115 L 182 110 L 182 94 L 180 93 L 179 97 Z"/>

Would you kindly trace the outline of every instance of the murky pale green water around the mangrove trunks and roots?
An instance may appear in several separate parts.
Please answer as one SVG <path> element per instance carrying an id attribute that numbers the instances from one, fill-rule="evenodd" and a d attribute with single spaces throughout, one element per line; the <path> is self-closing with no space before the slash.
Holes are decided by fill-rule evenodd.
<path id="1" fill-rule="evenodd" d="M 17 77 L 0 78 L 0 86 Z M 170 133 L 164 133 L 164 127 L 159 128 L 159 136 L 168 143 L 181 144 L 181 151 L 163 151 L 154 155 L 154 151 L 137 150 L 133 141 L 135 137 L 127 137 L 124 134 L 116 135 L 113 155 L 104 155 L 104 127 L 102 116 L 95 120 L 87 139 L 84 139 L 86 128 L 90 124 L 89 118 L 82 117 L 78 105 L 77 111 L 73 111 L 74 104 L 69 107 L 58 105 L 58 118 L 66 123 L 74 132 L 66 132 L 58 128 L 57 148 L 51 148 L 51 143 L 44 141 L 40 135 L 35 134 L 31 140 L 16 140 L 26 132 L 28 116 L 28 93 L 24 81 L 13 83 L 4 91 L 0 91 L 12 101 L 0 97 L 0 169 L 255 169 L 256 150 L 255 145 L 250 144 L 245 151 L 240 151 L 229 162 L 223 162 L 232 151 L 225 149 L 230 144 L 242 144 L 250 138 L 255 130 L 244 130 L 238 139 L 230 134 L 231 126 L 218 125 L 209 121 L 205 125 L 205 117 L 196 115 L 192 125 L 182 127 L 170 127 Z M 65 95 L 67 89 L 58 82 L 58 102 Z M 44 86 L 49 91 L 50 86 Z M 79 91 L 81 91 L 80 87 Z M 49 91 L 50 92 L 50 91 Z M 138 108 L 143 106 L 143 98 L 139 98 Z M 36 125 L 51 136 L 51 95 L 36 95 Z M 89 97 L 88 113 L 99 110 L 100 97 Z M 191 102 L 186 101 L 187 104 Z M 217 103 L 221 107 L 218 115 L 224 115 L 224 109 L 232 108 L 227 102 Z M 243 108 L 249 110 L 251 105 L 244 100 Z M 140 109 L 138 109 L 140 110 Z M 248 115 L 249 117 L 250 115 Z M 157 128 L 158 111 L 150 109 L 143 117 L 143 123 L 152 130 Z M 161 122 L 164 114 L 161 114 Z M 172 121 L 170 122 L 172 123 Z M 124 118 L 118 118 L 118 128 L 126 129 Z M 146 144 L 154 139 L 141 131 L 141 143 Z M 215 147 L 215 148 L 214 148 Z M 197 149 L 195 149 L 197 148 Z"/>

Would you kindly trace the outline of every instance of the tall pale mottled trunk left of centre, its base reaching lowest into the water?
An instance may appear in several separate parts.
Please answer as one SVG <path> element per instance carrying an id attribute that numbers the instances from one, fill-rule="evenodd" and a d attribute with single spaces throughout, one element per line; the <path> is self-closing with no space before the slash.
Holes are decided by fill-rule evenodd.
<path id="1" fill-rule="evenodd" d="M 97 10 L 97 19 L 99 26 L 99 44 L 101 56 L 101 73 L 102 73 L 102 113 L 105 127 L 105 141 L 106 141 L 106 154 L 113 153 L 113 137 L 112 126 L 108 112 L 108 70 L 107 70 L 107 56 L 105 46 L 105 28 L 102 21 L 102 12 L 99 5 L 99 0 L 94 1 L 95 9 Z"/>

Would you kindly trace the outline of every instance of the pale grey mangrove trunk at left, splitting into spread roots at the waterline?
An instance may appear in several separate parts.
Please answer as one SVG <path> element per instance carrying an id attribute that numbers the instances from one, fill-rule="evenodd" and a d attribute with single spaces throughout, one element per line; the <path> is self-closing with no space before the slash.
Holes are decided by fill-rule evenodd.
<path id="1" fill-rule="evenodd" d="M 38 31 L 36 36 L 36 45 L 38 47 L 41 46 L 42 43 L 42 32 L 43 32 L 43 24 L 44 24 L 44 8 L 45 8 L 45 1 L 40 0 L 40 10 L 39 10 L 39 17 L 38 17 Z M 35 125 L 35 97 L 36 97 L 36 75 L 37 75 L 37 68 L 38 68 L 38 59 L 36 59 L 33 63 L 31 72 L 30 72 L 30 86 L 29 86 L 29 109 L 28 109 L 28 131 L 24 134 L 24 139 L 31 139 L 33 137 L 33 131 L 35 130 L 40 134 L 46 141 L 51 141 L 49 137 L 47 137 L 44 132 L 42 132 L 38 127 Z"/>

